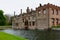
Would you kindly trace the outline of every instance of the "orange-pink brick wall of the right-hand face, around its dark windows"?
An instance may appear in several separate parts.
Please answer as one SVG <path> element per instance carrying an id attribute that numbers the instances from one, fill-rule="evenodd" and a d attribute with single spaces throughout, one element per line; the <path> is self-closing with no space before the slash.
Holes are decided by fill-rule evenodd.
<path id="1" fill-rule="evenodd" d="M 57 26 L 57 23 L 56 23 L 56 18 L 58 19 L 58 24 L 60 24 L 60 10 L 59 9 L 53 9 L 53 8 L 49 8 L 49 25 L 50 27 L 52 26 Z M 56 11 L 57 10 L 57 11 Z M 53 11 L 54 11 L 54 14 L 53 14 Z M 58 14 L 57 14 L 58 12 Z M 52 23 L 52 18 L 54 18 L 54 25 Z"/>

